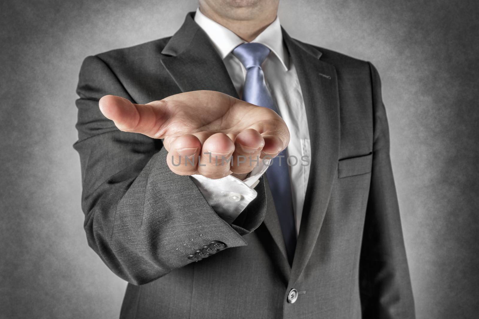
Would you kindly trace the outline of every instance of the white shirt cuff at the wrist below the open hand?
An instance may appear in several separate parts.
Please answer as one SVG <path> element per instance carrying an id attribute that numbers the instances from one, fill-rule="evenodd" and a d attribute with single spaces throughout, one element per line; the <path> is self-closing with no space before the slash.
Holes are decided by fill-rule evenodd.
<path id="1" fill-rule="evenodd" d="M 258 185 L 270 161 L 260 161 L 250 176 L 243 181 L 231 175 L 219 179 L 210 179 L 202 175 L 191 177 L 218 216 L 232 223 L 258 195 L 254 187 Z"/>

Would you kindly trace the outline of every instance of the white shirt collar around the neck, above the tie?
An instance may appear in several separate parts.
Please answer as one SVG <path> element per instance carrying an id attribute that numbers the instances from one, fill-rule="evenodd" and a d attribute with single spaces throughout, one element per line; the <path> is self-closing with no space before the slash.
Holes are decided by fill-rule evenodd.
<path id="1" fill-rule="evenodd" d="M 233 49 L 239 44 L 246 43 L 246 41 L 241 39 L 228 28 L 206 17 L 203 13 L 201 13 L 199 8 L 196 9 L 194 21 L 211 39 L 211 42 L 213 42 L 213 45 L 217 49 L 222 59 L 230 54 L 231 51 L 233 51 Z M 273 23 L 268 25 L 268 27 L 251 42 L 266 45 L 274 53 L 274 55 L 278 57 L 285 70 L 288 69 L 289 60 L 285 45 L 283 44 L 283 33 L 281 31 L 281 24 L 279 23 L 278 17 L 276 17 Z"/>

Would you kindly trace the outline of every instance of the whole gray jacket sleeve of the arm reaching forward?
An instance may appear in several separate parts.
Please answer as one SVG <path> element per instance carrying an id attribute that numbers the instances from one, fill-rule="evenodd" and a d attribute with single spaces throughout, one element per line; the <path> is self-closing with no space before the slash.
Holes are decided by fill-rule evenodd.
<path id="1" fill-rule="evenodd" d="M 228 225 L 189 176 L 170 171 L 160 140 L 121 132 L 103 116 L 98 100 L 104 95 L 134 100 L 101 57 L 83 62 L 77 94 L 74 148 L 80 154 L 84 228 L 91 248 L 116 275 L 146 284 L 192 263 L 190 255 L 213 241 L 227 249 L 247 244 L 242 235 L 264 218 L 264 185 L 257 187 L 254 217 Z M 213 246 L 210 253 L 225 248 Z"/>

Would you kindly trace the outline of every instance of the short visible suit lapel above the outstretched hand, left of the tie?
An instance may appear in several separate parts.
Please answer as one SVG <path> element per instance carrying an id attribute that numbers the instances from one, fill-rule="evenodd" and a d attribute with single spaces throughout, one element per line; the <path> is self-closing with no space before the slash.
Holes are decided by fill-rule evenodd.
<path id="1" fill-rule="evenodd" d="M 182 92 L 212 90 L 238 98 L 226 66 L 192 13 L 161 53 L 169 55 L 161 64 Z"/>

